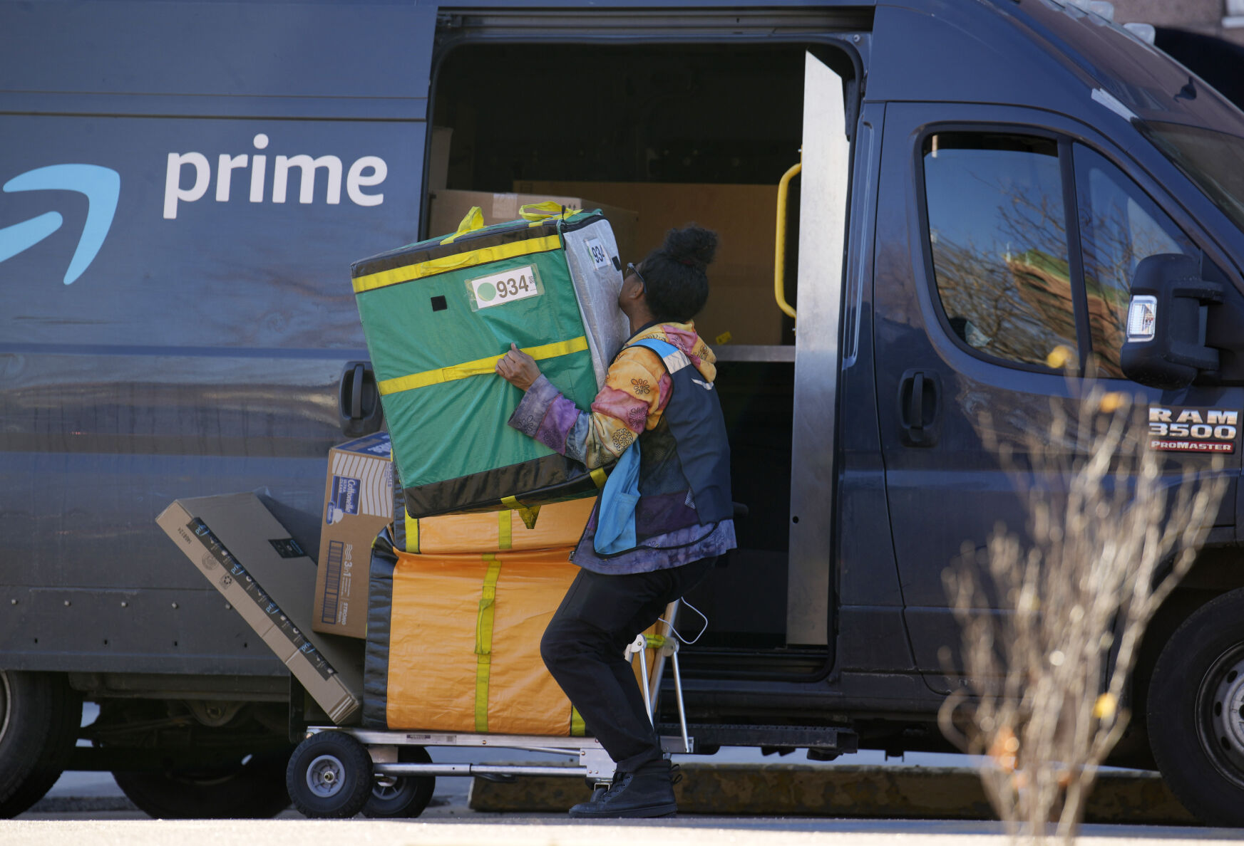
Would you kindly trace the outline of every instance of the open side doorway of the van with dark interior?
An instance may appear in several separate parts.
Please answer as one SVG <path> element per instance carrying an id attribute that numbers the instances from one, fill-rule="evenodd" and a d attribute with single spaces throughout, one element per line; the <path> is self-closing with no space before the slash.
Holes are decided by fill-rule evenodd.
<path id="1" fill-rule="evenodd" d="M 831 67 L 838 86 L 853 76 L 846 53 L 815 50 L 817 58 L 795 43 L 468 42 L 434 76 L 434 145 L 448 144 L 448 154 L 429 165 L 425 236 L 457 226 L 444 210 L 486 201 L 464 191 L 577 198 L 586 207 L 632 212 L 615 221 L 623 263 L 687 222 L 720 235 L 709 303 L 695 323 L 718 357 L 734 499 L 748 513 L 736 521 L 739 549 L 688 595 L 709 619 L 685 655 L 692 675 L 809 675 L 829 665 L 832 509 L 805 517 L 804 529 L 824 522 L 816 532 L 824 547 L 815 560 L 792 562 L 796 338 L 774 296 L 779 183 L 800 161 L 807 63 Z M 845 198 L 846 161 L 841 178 Z M 785 240 L 786 298 L 796 308 L 799 188 L 796 178 Z M 832 325 L 821 330 L 836 337 L 836 303 Z M 832 432 L 832 391 L 829 410 Z M 831 465 L 832 443 L 817 446 Z M 817 483 L 832 491 L 832 480 Z M 789 637 L 789 594 L 809 594 L 801 612 L 822 616 L 819 636 Z M 699 624 L 683 615 L 690 634 Z"/>

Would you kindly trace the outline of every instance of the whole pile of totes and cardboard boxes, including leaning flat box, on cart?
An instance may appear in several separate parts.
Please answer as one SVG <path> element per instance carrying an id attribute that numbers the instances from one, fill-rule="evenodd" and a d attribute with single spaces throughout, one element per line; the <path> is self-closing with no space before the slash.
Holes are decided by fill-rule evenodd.
<path id="1" fill-rule="evenodd" d="M 501 195 L 500 205 L 522 199 Z M 562 198 L 556 205 L 575 200 Z M 494 195 L 494 211 L 496 204 Z M 633 231 L 633 214 L 611 214 Z M 544 369 L 559 388 L 565 379 L 571 388 L 564 393 L 586 407 L 626 337 L 616 308 L 622 261 L 598 211 L 560 211 L 551 221 L 480 229 L 484 222 L 356 266 L 361 294 L 415 283 L 406 288 L 408 302 L 389 296 L 364 311 L 364 328 L 369 323 L 374 330 L 368 343 L 373 360 L 379 359 L 382 395 L 386 379 L 402 383 L 391 385 L 398 394 L 457 384 L 430 405 L 386 403 L 396 439 L 379 432 L 331 451 L 318 566 L 254 494 L 183 499 L 158 518 L 338 724 L 356 722 L 361 704 L 362 723 L 371 728 L 552 737 L 585 730 L 544 667 L 540 639 L 577 573 L 570 553 L 605 475 L 564 468 L 561 463 L 575 462 L 506 426 L 520 393 L 491 368 L 508 344 L 480 350 L 491 353 L 484 360 L 452 355 L 459 334 L 484 344 L 503 337 L 537 347 L 547 338 L 575 342 L 555 350 L 557 366 Z M 465 247 L 447 248 L 459 237 Z M 542 255 L 559 251 L 561 257 Z M 444 272 L 464 263 L 465 273 Z M 535 271 L 535 287 L 513 303 L 491 302 L 480 275 L 524 270 Z M 367 280 L 362 287 L 360 278 Z M 428 280 L 435 283 L 418 284 Z M 499 297 L 499 288 L 494 293 Z M 425 313 L 450 308 L 453 321 L 427 321 Z M 437 328 L 445 325 L 448 334 L 438 338 Z M 383 340 L 381 350 L 376 337 Z M 447 350 L 450 360 L 418 373 L 383 371 L 419 357 L 432 362 Z M 391 406 L 402 414 L 391 414 Z M 437 409 L 447 414 L 430 414 Z M 459 441 L 480 430 L 513 436 L 500 458 L 488 448 L 479 455 L 459 448 Z M 438 440 L 450 460 L 469 458 L 455 465 L 459 472 L 474 470 L 403 484 L 397 472 L 403 452 L 394 462 L 393 440 L 404 440 L 404 460 L 417 473 L 428 473 L 429 440 Z M 514 448 L 520 441 L 522 448 Z M 464 507 L 475 511 L 444 513 Z M 656 681 L 661 662 L 654 650 L 647 666 Z"/>

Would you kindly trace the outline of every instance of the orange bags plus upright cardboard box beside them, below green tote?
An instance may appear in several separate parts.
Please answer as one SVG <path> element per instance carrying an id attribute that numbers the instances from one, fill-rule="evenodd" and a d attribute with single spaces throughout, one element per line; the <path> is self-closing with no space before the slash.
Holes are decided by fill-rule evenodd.
<path id="1" fill-rule="evenodd" d="M 570 552 L 595 502 L 418 519 L 387 432 L 335 447 L 312 629 L 366 639 L 363 724 L 582 734 L 540 637 L 575 578 Z"/>

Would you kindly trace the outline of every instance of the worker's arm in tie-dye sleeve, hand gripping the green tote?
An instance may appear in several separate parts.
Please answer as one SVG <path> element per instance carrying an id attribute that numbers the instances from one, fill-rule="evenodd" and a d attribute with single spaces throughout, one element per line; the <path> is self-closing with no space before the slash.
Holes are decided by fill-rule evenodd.
<path id="1" fill-rule="evenodd" d="M 530 357 L 515 352 L 498 364 L 503 378 L 527 391 L 510 425 L 588 470 L 617 461 L 639 432 L 657 425 L 669 401 L 669 374 L 643 347 L 624 349 L 615 359 L 591 411 L 562 396 Z"/>

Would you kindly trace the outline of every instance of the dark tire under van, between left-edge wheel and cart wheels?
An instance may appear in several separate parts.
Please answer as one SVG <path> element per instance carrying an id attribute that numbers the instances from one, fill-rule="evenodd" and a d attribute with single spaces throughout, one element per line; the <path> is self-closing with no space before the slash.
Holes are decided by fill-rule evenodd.
<path id="1" fill-rule="evenodd" d="M 285 765 L 290 753 L 255 755 L 245 763 L 163 773 L 117 773 L 117 786 L 157 820 L 265 820 L 290 806 Z"/>

